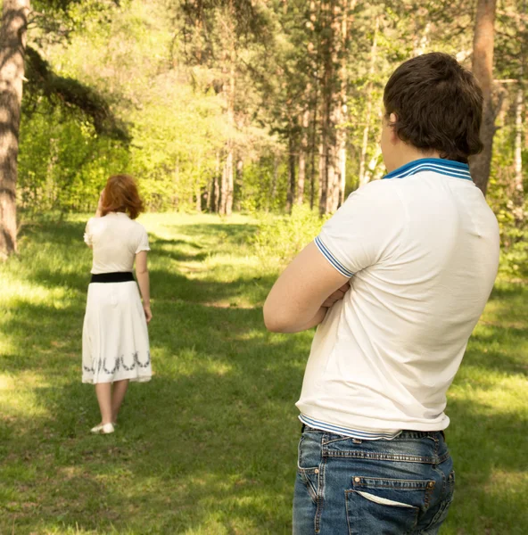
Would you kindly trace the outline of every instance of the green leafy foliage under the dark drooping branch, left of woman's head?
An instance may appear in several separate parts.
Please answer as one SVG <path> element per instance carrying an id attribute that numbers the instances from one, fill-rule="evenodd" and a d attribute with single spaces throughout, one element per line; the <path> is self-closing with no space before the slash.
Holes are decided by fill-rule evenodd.
<path id="1" fill-rule="evenodd" d="M 21 209 L 95 209 L 107 177 L 128 166 L 128 151 L 99 136 L 82 114 L 40 99 L 21 125 L 18 196 Z"/>

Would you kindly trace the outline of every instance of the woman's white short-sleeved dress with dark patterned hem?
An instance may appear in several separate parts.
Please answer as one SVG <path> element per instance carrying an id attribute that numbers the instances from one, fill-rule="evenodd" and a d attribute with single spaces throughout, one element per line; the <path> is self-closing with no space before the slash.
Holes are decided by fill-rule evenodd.
<path id="1" fill-rule="evenodd" d="M 111 212 L 87 222 L 92 273 L 132 271 L 139 251 L 150 251 L 144 226 L 127 214 Z M 151 354 L 136 282 L 91 283 L 83 325 L 82 382 L 149 381 Z"/>

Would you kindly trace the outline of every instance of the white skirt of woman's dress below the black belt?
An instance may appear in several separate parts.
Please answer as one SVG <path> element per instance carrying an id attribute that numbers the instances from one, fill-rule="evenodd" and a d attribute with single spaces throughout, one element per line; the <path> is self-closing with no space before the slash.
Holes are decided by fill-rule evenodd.
<path id="1" fill-rule="evenodd" d="M 148 331 L 135 281 L 88 285 L 82 366 L 83 383 L 151 379 Z"/>

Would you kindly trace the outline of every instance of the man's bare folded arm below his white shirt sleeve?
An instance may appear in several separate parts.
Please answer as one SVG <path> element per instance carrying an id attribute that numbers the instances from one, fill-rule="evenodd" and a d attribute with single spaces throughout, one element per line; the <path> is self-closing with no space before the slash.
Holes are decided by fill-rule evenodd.
<path id="1" fill-rule="evenodd" d="M 319 325 L 326 310 L 342 299 L 349 279 L 309 243 L 278 277 L 264 304 L 269 331 L 298 333 Z"/>

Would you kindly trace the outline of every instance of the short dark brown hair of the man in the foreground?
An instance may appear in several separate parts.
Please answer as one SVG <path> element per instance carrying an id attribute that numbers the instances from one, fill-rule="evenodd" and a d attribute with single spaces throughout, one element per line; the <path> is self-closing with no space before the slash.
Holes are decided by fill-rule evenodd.
<path id="1" fill-rule="evenodd" d="M 386 118 L 400 139 L 441 158 L 467 163 L 483 150 L 479 137 L 483 92 L 473 74 L 447 53 L 425 53 L 404 62 L 384 90 Z"/>

